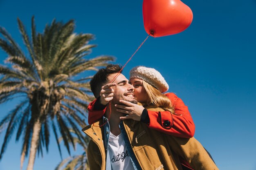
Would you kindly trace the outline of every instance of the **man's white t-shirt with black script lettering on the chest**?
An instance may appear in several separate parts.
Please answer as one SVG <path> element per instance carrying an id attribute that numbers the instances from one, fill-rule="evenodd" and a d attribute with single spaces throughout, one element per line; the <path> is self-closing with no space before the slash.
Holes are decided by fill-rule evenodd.
<path id="1" fill-rule="evenodd" d="M 115 136 L 110 132 L 108 152 L 112 170 L 134 170 L 121 133 Z"/>

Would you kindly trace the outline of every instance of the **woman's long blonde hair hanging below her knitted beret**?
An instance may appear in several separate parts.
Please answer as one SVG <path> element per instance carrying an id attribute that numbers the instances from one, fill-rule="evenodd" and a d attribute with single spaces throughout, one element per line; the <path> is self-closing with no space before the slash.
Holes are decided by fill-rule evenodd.
<path id="1" fill-rule="evenodd" d="M 146 94 L 148 95 L 148 101 L 145 103 L 145 106 L 155 105 L 175 114 L 173 104 L 166 95 L 162 94 L 154 86 L 148 84 L 148 82 L 145 82 L 144 80 L 142 84 L 145 88 Z"/>

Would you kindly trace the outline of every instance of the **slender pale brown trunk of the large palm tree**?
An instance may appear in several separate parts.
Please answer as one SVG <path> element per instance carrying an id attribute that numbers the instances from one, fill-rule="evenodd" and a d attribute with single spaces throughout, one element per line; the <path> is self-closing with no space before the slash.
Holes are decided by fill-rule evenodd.
<path id="1" fill-rule="evenodd" d="M 34 167 L 41 126 L 42 124 L 40 124 L 40 120 L 38 119 L 33 127 L 33 135 L 32 135 L 31 144 L 30 144 L 29 163 L 27 166 L 27 170 L 33 170 L 33 167 Z"/>

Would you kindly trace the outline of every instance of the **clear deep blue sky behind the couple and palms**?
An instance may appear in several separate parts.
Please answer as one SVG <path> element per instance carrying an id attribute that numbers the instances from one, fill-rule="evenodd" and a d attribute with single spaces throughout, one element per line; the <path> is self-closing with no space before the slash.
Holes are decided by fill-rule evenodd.
<path id="1" fill-rule="evenodd" d="M 24 48 L 17 17 L 30 33 L 31 17 L 37 31 L 46 23 L 76 21 L 76 33 L 92 33 L 90 57 L 112 55 L 125 64 L 147 34 L 142 0 L 31 1 L 0 0 L 0 26 Z M 256 170 L 256 0 L 184 0 L 193 22 L 184 32 L 150 37 L 127 64 L 124 75 L 137 65 L 156 68 L 170 89 L 189 106 L 195 137 L 223 170 Z M 28 52 L 26 51 L 28 54 Z M 0 64 L 7 55 L 0 50 Z M 90 73 L 92 74 L 92 73 Z M 18 99 L 0 105 L 4 117 Z M 0 144 L 4 134 L 0 134 Z M 49 153 L 37 157 L 35 170 L 54 170 L 61 161 L 55 139 Z M 20 168 L 21 141 L 8 145 L 0 170 Z M 63 149 L 63 157 L 67 153 Z M 77 152 L 81 153 L 81 148 Z M 25 161 L 26 168 L 27 160 Z"/>

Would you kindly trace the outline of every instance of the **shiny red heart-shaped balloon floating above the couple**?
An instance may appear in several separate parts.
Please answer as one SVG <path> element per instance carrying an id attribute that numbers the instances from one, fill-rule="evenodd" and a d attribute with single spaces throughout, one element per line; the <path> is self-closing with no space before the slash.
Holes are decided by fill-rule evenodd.
<path id="1" fill-rule="evenodd" d="M 143 21 L 153 37 L 173 35 L 184 31 L 193 20 L 191 9 L 180 0 L 144 0 Z"/>

